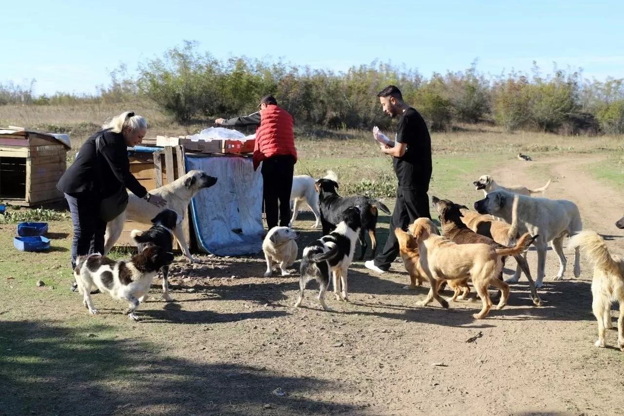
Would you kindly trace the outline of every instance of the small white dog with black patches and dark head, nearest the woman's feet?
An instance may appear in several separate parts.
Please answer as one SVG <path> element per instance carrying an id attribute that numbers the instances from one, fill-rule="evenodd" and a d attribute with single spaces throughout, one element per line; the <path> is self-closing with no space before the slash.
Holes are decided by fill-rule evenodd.
<path id="1" fill-rule="evenodd" d="M 152 280 L 161 267 L 171 264 L 173 253 L 162 247 L 147 247 L 130 260 L 111 260 L 101 254 L 81 255 L 76 259 L 74 278 L 82 304 L 91 314 L 99 314 L 91 299 L 90 291 L 100 289 L 113 299 L 126 300 L 130 307 L 124 313 L 132 320 L 139 320 L 134 312 L 145 300 L 152 287 Z"/>

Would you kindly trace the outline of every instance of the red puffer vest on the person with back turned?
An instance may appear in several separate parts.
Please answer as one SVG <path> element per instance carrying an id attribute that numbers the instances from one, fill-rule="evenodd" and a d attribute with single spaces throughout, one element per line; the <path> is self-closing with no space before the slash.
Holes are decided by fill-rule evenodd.
<path id="1" fill-rule="evenodd" d="M 278 106 L 267 106 L 256 129 L 256 145 L 253 149 L 253 170 L 260 162 L 271 156 L 292 155 L 297 161 L 293 117 Z"/>

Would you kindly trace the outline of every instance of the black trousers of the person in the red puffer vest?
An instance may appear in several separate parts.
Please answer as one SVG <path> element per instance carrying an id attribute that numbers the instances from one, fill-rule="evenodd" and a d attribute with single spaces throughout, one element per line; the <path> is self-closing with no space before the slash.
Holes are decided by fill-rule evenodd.
<path id="1" fill-rule="evenodd" d="M 295 158 L 292 156 L 270 157 L 262 162 L 261 172 L 266 225 L 268 229 L 277 227 L 279 219 L 280 227 L 288 227 Z"/>

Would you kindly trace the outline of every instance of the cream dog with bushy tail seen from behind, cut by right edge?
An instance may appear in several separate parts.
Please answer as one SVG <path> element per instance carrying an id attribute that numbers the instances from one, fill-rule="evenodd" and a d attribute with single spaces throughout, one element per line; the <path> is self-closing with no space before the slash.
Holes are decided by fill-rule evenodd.
<path id="1" fill-rule="evenodd" d="M 568 248 L 583 251 L 593 263 L 592 310 L 598 321 L 597 347 L 605 347 L 605 329 L 612 329 L 611 305 L 620 304 L 618 347 L 624 352 L 624 259 L 612 255 L 605 240 L 595 231 L 573 235 Z"/>

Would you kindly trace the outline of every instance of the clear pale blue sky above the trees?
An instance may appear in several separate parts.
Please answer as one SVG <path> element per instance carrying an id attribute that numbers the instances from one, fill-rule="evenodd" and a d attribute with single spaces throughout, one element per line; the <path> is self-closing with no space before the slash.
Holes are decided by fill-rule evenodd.
<path id="1" fill-rule="evenodd" d="M 27 0 L 2 1 L 0 83 L 36 79 L 37 94 L 95 92 L 198 41 L 218 58 L 278 59 L 336 71 L 378 59 L 432 72 L 543 72 L 624 77 L 624 1 Z M 10 17 L 10 19 L 7 19 Z"/>

